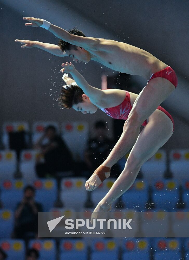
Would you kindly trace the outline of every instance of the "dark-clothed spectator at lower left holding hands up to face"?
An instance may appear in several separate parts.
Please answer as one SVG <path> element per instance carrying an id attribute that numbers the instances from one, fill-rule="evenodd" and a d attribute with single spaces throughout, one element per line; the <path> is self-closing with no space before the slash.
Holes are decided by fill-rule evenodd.
<path id="1" fill-rule="evenodd" d="M 15 212 L 16 238 L 35 238 L 37 235 L 37 213 L 42 212 L 42 205 L 35 202 L 35 189 L 26 186 L 21 202 L 17 204 Z"/>

